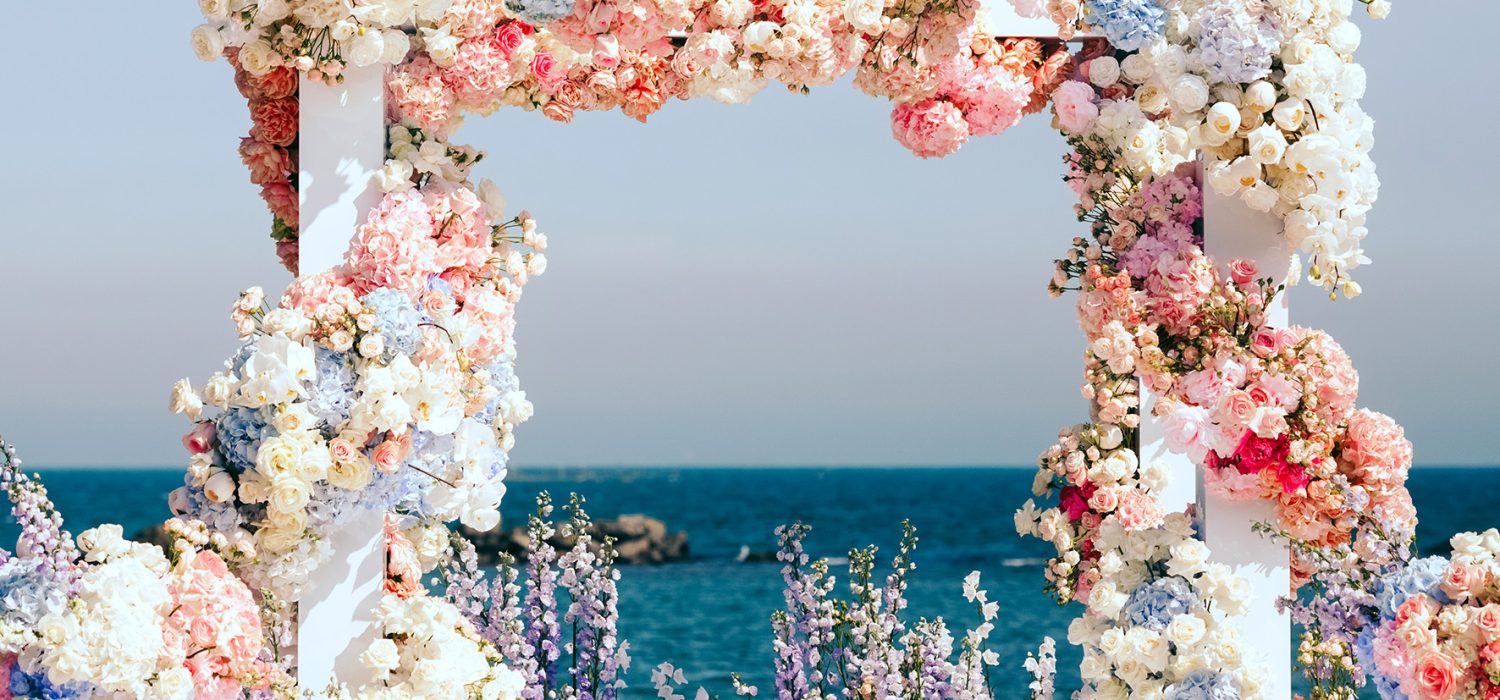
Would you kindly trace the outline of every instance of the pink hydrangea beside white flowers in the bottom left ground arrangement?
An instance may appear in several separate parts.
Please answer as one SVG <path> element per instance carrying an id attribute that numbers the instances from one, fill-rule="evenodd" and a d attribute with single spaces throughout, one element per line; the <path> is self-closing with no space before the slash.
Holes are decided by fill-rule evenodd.
<path id="1" fill-rule="evenodd" d="M 182 660 L 202 700 L 230 700 L 264 687 L 261 610 L 249 588 L 213 552 L 186 552 L 168 577 L 172 612 L 162 630 L 165 654 Z"/>

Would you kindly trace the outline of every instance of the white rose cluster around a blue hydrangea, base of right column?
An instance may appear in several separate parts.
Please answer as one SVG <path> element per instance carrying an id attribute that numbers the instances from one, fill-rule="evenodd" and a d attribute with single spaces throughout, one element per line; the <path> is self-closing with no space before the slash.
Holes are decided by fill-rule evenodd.
<path id="1" fill-rule="evenodd" d="M 1101 580 L 1068 628 L 1068 642 L 1083 648 L 1084 697 L 1264 697 L 1264 669 L 1228 624 L 1244 613 L 1250 585 L 1209 564 L 1185 514 L 1148 532 L 1106 523 L 1095 544 Z"/>

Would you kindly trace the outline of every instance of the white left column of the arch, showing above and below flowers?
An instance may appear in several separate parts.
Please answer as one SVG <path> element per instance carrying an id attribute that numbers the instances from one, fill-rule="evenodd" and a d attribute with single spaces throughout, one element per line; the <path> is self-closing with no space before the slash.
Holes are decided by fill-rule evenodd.
<path id="1" fill-rule="evenodd" d="M 386 162 L 386 70 L 350 67 L 344 84 L 302 79 L 297 136 L 298 273 L 344 262 L 356 228 L 380 204 Z M 360 511 L 328 537 L 332 556 L 297 601 L 297 684 L 322 691 L 369 681 L 360 654 L 380 636 L 375 609 L 386 574 L 384 513 Z"/>

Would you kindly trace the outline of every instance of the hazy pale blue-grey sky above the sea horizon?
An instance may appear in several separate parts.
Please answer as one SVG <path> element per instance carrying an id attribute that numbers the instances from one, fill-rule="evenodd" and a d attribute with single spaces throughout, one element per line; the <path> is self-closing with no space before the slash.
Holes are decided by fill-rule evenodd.
<path id="1" fill-rule="evenodd" d="M 178 466 L 171 384 L 230 357 L 228 307 L 288 274 L 238 162 L 230 67 L 188 46 L 188 0 L 16 3 L 0 42 L 0 435 L 30 466 Z M 1500 3 L 1404 0 L 1360 18 L 1383 181 L 1365 294 L 1298 288 L 1360 403 L 1420 465 L 1494 465 L 1500 90 L 1455 22 Z M 1472 36 L 1470 36 L 1472 39 Z M 752 105 L 674 102 L 639 124 L 472 117 L 454 141 L 549 234 L 519 375 L 514 465 L 1029 465 L 1088 418 L 1072 300 L 1052 259 L 1084 229 L 1046 117 L 942 160 L 848 84 Z"/>

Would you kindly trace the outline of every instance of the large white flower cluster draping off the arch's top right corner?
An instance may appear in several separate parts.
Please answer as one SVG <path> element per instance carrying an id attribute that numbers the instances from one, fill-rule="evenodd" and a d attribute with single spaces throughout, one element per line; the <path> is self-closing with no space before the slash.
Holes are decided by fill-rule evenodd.
<path id="1" fill-rule="evenodd" d="M 1166 172 L 1196 151 L 1208 181 L 1286 220 L 1308 279 L 1347 297 L 1348 271 L 1380 180 L 1374 120 L 1360 108 L 1354 0 L 1172 0 L 1166 33 L 1124 60 L 1084 64 L 1100 138 L 1136 172 Z M 1074 123 L 1074 127 L 1078 124 Z"/>

